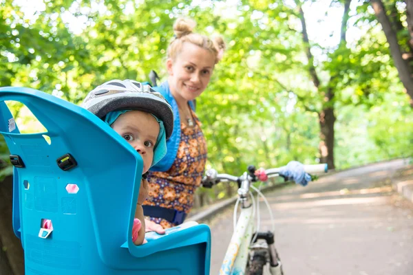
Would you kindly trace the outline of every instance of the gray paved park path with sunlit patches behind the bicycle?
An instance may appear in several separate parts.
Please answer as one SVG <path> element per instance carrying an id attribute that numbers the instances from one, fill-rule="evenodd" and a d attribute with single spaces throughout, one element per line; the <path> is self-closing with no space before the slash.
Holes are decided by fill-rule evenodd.
<path id="1" fill-rule="evenodd" d="M 390 186 L 402 160 L 335 173 L 266 195 L 286 275 L 412 275 L 413 204 Z M 264 203 L 262 223 L 271 221 Z M 211 274 L 231 239 L 232 210 L 210 223 Z"/>

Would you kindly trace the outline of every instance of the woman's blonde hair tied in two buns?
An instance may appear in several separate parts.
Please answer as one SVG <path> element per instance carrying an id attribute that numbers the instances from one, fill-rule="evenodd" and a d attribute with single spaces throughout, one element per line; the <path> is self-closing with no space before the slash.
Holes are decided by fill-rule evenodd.
<path id="1" fill-rule="evenodd" d="M 205 35 L 192 32 L 195 25 L 196 23 L 192 19 L 179 18 L 175 21 L 173 24 L 174 39 L 169 43 L 167 58 L 171 58 L 174 61 L 176 56 L 182 51 L 182 45 L 185 42 L 189 42 L 213 53 L 215 64 L 217 64 L 225 50 L 224 39 L 221 36 L 215 36 L 211 40 Z"/>

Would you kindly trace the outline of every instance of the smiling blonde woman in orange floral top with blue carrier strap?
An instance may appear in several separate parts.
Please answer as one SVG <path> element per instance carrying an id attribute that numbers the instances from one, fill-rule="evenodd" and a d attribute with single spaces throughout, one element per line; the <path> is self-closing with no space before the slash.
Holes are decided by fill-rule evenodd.
<path id="1" fill-rule="evenodd" d="M 168 79 L 155 87 L 171 104 L 175 116 L 167 142 L 167 156 L 151 168 L 149 197 L 144 203 L 147 230 L 158 233 L 182 223 L 200 186 L 207 146 L 193 100 L 207 88 L 215 64 L 222 58 L 224 41 L 193 33 L 195 22 L 178 19 L 167 50 Z"/>

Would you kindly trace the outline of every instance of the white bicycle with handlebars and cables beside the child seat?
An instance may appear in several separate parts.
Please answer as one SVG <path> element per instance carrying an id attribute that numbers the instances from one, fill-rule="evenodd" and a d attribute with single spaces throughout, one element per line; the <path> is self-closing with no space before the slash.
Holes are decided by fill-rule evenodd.
<path id="1" fill-rule="evenodd" d="M 209 169 L 202 179 L 202 186 L 211 188 L 221 181 L 233 181 L 238 184 L 238 199 L 234 208 L 234 232 L 226 250 L 224 261 L 220 269 L 220 274 L 263 274 L 264 267 L 269 263 L 269 272 L 272 275 L 283 275 L 282 263 L 275 248 L 274 230 L 275 223 L 271 207 L 259 188 L 253 186 L 253 182 L 258 181 L 255 175 L 255 167 L 248 166 L 248 171 L 240 177 L 228 174 L 218 174 L 216 170 Z M 268 177 L 279 177 L 280 168 L 270 168 L 265 170 Z M 327 164 L 306 165 L 304 170 L 307 173 L 327 172 Z M 264 199 L 271 217 L 273 230 L 260 232 L 260 208 L 257 206 L 251 189 L 257 192 L 258 196 Z M 249 199 L 251 197 L 251 201 Z M 240 217 L 237 219 L 237 208 L 241 205 Z M 254 216 L 257 217 L 257 230 L 254 232 Z"/>

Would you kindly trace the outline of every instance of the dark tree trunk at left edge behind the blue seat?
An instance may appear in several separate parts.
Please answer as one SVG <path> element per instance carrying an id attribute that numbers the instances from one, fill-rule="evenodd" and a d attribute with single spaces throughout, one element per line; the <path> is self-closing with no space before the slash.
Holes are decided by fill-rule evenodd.
<path id="1" fill-rule="evenodd" d="M 0 274 L 24 274 L 21 241 L 12 228 L 12 176 L 0 182 Z"/>

